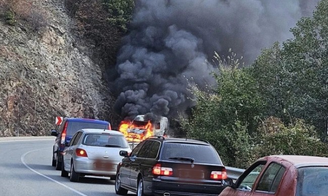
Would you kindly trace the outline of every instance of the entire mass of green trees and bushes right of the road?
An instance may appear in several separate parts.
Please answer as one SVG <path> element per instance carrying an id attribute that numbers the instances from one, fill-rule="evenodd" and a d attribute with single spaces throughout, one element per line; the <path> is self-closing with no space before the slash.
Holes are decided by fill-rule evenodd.
<path id="1" fill-rule="evenodd" d="M 191 86 L 195 107 L 181 127 L 209 141 L 223 162 L 245 168 L 267 155 L 328 156 L 328 1 L 291 29 L 293 39 L 264 49 L 251 66 L 221 59 L 217 85 Z"/>

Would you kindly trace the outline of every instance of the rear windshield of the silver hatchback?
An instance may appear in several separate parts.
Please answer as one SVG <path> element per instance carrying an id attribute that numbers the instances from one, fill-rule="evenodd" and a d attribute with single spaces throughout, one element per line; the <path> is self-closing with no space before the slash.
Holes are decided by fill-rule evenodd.
<path id="1" fill-rule="evenodd" d="M 129 144 L 124 136 L 110 134 L 87 134 L 84 137 L 82 144 L 86 146 L 129 148 Z"/>

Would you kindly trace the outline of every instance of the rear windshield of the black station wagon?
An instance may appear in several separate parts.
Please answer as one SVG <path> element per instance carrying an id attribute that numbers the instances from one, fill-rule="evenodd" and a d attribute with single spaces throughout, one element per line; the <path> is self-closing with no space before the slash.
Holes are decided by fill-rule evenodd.
<path id="1" fill-rule="evenodd" d="M 193 160 L 194 163 L 222 164 L 212 146 L 190 143 L 165 143 L 162 159 L 170 161 Z"/>

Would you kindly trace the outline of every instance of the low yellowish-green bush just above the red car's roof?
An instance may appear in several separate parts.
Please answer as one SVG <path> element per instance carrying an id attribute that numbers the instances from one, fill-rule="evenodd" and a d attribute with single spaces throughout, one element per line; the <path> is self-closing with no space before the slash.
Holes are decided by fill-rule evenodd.
<path id="1" fill-rule="evenodd" d="M 253 160 L 268 155 L 328 156 L 328 145 L 304 120 L 296 119 L 286 126 L 279 118 L 270 117 L 263 123 L 252 145 Z"/>

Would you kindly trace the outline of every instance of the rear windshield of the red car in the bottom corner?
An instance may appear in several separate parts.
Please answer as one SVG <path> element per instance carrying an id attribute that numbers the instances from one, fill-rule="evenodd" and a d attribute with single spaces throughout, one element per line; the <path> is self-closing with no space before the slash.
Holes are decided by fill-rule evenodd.
<path id="1" fill-rule="evenodd" d="M 328 192 L 328 167 L 297 169 L 296 196 L 324 196 Z"/>

